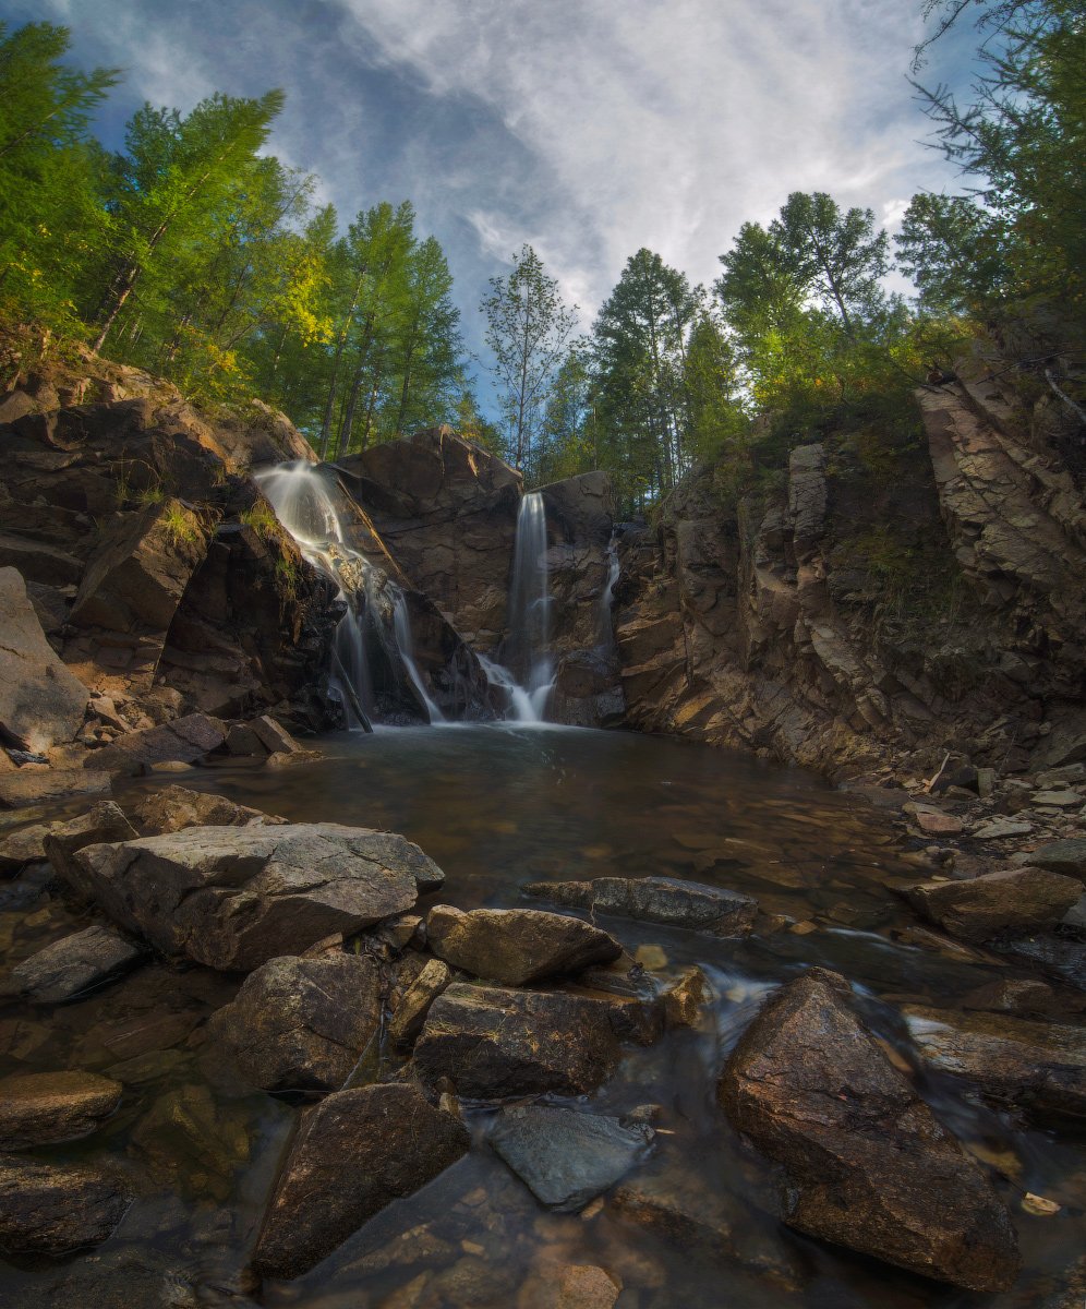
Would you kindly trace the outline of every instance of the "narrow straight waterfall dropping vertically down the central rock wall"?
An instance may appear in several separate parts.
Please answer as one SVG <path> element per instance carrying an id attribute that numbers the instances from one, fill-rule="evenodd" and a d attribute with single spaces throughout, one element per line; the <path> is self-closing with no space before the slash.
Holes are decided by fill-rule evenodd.
<path id="1" fill-rule="evenodd" d="M 480 661 L 506 696 L 508 716 L 518 723 L 542 723 L 555 666 L 550 652 L 551 600 L 547 593 L 547 512 L 533 491 L 521 500 L 513 577 L 509 585 L 509 636 L 502 664 Z M 504 665 L 504 666 L 502 666 Z"/>

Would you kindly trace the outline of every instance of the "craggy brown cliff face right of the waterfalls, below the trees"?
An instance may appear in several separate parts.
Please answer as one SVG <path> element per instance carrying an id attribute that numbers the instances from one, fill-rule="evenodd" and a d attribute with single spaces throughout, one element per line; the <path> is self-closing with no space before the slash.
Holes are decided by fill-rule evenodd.
<path id="1" fill-rule="evenodd" d="M 1086 757 L 1074 424 L 994 370 L 919 393 L 916 440 L 801 445 L 762 503 L 704 471 L 628 533 L 629 724 L 837 776 Z"/>

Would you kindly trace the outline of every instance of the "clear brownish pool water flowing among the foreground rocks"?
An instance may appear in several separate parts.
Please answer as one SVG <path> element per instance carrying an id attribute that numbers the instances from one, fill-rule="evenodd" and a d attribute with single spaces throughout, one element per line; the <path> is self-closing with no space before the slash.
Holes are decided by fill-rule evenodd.
<path id="1" fill-rule="evenodd" d="M 1011 1292 L 983 1302 L 1043 1304 L 1086 1245 L 1082 1141 L 1025 1131 L 916 1069 L 898 1007 L 953 1004 L 1013 970 L 977 952 L 919 944 L 894 893 L 917 880 L 919 865 L 886 814 L 798 770 L 625 733 L 419 728 L 339 736 L 321 747 L 317 763 L 203 768 L 131 787 L 179 781 L 293 821 L 403 833 L 446 873 L 432 899 L 462 908 L 527 903 L 521 888 L 531 881 L 656 873 L 744 891 L 779 916 L 773 931 L 739 941 L 599 919 L 663 979 L 696 963 L 712 984 L 697 1028 L 628 1047 L 615 1080 L 593 1097 L 615 1113 L 659 1106 L 646 1175 L 704 1213 L 700 1238 L 649 1233 L 611 1203 L 580 1216 L 540 1210 L 485 1145 L 488 1113 L 478 1109 L 476 1145 L 462 1162 L 390 1206 L 305 1278 L 256 1291 L 243 1268 L 296 1110 L 207 1077 L 200 1025 L 238 979 L 162 962 L 80 1004 L 0 1011 L 4 1072 L 85 1067 L 126 1084 L 106 1131 L 42 1153 L 109 1157 L 139 1191 L 94 1253 L 0 1267 L 0 1304 L 188 1309 L 255 1297 L 270 1309 L 543 1309 L 564 1264 L 611 1272 L 623 1284 L 619 1309 L 981 1302 L 781 1227 L 772 1216 L 775 1174 L 717 1109 L 717 1073 L 762 997 L 810 963 L 849 978 L 921 1093 L 998 1170 L 1026 1271 Z M 84 922 L 47 899 L 29 914 L 0 914 L 0 942 L 18 959 Z M 396 1067 L 391 1052 L 381 1059 L 382 1071 Z M 1025 1212 L 1027 1191 L 1055 1199 L 1060 1213 Z"/>

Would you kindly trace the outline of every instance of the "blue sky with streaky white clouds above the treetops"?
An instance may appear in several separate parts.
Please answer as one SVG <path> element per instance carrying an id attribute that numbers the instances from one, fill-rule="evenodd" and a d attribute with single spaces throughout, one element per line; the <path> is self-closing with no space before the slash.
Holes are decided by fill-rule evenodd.
<path id="1" fill-rule="evenodd" d="M 144 101 L 287 92 L 270 151 L 343 224 L 410 199 L 442 243 L 468 347 L 523 243 L 591 319 L 637 249 L 709 285 L 741 224 L 828 191 L 895 229 L 960 186 L 908 82 L 922 0 L 0 0 L 123 69 L 96 130 Z M 971 33 L 929 85 L 967 77 Z M 485 359 L 483 359 L 485 364 Z"/>

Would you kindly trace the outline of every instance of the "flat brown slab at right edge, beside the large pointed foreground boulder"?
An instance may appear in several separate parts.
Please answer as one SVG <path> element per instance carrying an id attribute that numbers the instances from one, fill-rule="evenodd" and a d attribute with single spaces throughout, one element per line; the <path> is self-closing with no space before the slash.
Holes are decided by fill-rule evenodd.
<path id="1" fill-rule="evenodd" d="M 902 1012 L 928 1063 L 985 1098 L 1036 1118 L 1086 1118 L 1086 1029 L 919 1005 Z"/>

